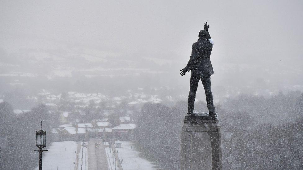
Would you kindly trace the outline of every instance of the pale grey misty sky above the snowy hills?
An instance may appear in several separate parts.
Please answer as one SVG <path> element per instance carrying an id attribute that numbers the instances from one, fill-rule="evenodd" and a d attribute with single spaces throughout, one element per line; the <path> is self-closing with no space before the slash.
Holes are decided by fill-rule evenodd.
<path id="1" fill-rule="evenodd" d="M 121 60 L 144 56 L 173 62 L 172 72 L 179 76 L 177 69 L 186 66 L 192 43 L 207 21 L 215 42 L 215 79 L 238 64 L 239 72 L 256 65 L 294 79 L 301 80 L 303 73 L 303 1 L 0 3 L 0 49 L 7 54 L 85 48 Z M 249 69 L 254 74 L 258 68 Z M 188 82 L 189 76 L 182 80 Z"/>

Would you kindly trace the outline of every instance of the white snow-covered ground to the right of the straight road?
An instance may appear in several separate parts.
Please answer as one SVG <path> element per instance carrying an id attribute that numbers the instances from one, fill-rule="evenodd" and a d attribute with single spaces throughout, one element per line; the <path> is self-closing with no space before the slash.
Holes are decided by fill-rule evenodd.
<path id="1" fill-rule="evenodd" d="M 120 161 L 123 159 L 121 163 L 123 170 L 154 170 L 154 164 L 149 162 L 147 159 L 142 158 L 140 152 L 138 152 L 133 145 L 135 141 L 121 141 L 122 148 L 116 148 L 118 151 L 118 156 Z M 131 147 L 132 146 L 132 147 Z M 115 164 L 112 164 L 111 153 L 109 148 L 106 147 L 106 155 L 110 157 L 108 162 L 111 162 L 113 168 L 115 169 Z"/>

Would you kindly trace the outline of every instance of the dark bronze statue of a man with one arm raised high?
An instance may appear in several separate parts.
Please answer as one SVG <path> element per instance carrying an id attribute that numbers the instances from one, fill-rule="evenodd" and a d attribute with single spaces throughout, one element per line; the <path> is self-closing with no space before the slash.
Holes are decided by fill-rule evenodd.
<path id="1" fill-rule="evenodd" d="M 193 113 L 198 83 L 201 79 L 205 90 L 209 115 L 214 118 L 216 113 L 213 94 L 210 89 L 210 76 L 214 74 L 214 70 L 210 62 L 210 53 L 214 42 L 210 38 L 208 28 L 209 25 L 206 22 L 206 24 L 204 24 L 204 30 L 199 32 L 198 41 L 192 44 L 192 55 L 189 58 L 187 66 L 180 70 L 180 75 L 184 76 L 186 72 L 191 70 L 187 114 L 191 115 Z"/>

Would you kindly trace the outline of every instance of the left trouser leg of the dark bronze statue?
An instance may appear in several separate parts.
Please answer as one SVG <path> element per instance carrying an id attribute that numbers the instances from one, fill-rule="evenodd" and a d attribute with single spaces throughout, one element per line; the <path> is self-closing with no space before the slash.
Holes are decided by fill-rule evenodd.
<path id="1" fill-rule="evenodd" d="M 188 94 L 188 114 L 194 111 L 196 92 L 200 78 L 198 76 L 190 76 L 189 94 Z"/>

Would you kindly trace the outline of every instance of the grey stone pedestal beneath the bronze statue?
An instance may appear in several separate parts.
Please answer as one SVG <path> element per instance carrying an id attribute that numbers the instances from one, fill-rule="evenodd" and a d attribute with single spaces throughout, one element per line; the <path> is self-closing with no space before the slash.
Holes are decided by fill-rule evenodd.
<path id="1" fill-rule="evenodd" d="M 221 135 L 219 120 L 208 113 L 185 116 L 181 133 L 181 170 L 220 170 Z"/>

